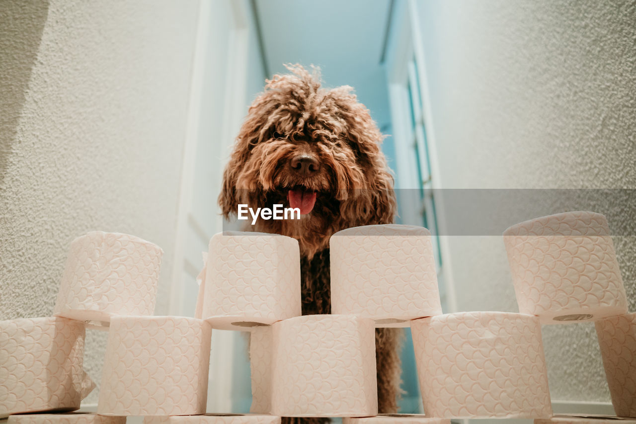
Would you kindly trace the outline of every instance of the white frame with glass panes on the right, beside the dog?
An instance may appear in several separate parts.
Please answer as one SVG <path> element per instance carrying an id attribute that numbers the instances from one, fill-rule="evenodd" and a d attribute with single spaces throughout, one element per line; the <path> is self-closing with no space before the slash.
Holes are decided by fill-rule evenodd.
<path id="1" fill-rule="evenodd" d="M 457 311 L 457 302 L 452 279 L 449 236 L 440 236 L 439 229 L 445 228 L 443 218 L 443 198 L 439 195 L 441 178 L 434 138 L 434 128 L 425 73 L 425 56 L 420 38 L 417 3 L 408 0 L 405 4 L 403 20 L 397 17 L 392 28 L 392 52 L 387 60 L 387 81 L 391 101 L 391 120 L 396 148 L 396 188 L 397 201 L 403 222 L 423 222 L 431 230 L 436 251 L 436 271 L 439 294 L 445 312 Z M 411 95 L 415 101 L 410 102 Z M 410 116 L 413 104 L 413 117 Z M 412 121 L 411 121 L 412 119 Z M 415 129 L 411 129 L 411 122 Z M 418 161 L 414 159 L 413 148 L 418 147 Z M 424 166 L 424 178 L 420 178 L 419 166 Z M 400 195 L 402 189 L 418 189 L 422 200 L 416 196 Z"/>

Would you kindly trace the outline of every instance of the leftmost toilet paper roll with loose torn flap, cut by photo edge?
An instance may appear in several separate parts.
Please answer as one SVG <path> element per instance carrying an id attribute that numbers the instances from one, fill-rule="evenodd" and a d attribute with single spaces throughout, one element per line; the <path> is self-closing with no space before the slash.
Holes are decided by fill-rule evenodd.
<path id="1" fill-rule="evenodd" d="M 79 409 L 95 387 L 82 368 L 84 336 L 66 318 L 0 321 L 0 418 Z"/>

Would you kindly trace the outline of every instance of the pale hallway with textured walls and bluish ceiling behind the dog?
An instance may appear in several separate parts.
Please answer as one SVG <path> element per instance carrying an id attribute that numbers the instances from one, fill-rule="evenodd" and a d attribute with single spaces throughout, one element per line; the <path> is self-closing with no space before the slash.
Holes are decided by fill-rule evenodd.
<path id="1" fill-rule="evenodd" d="M 162 246 L 155 314 L 193 316 L 201 252 L 230 228 L 223 167 L 286 63 L 370 110 L 397 222 L 437 236 L 445 313 L 518 311 L 501 232 L 538 216 L 530 193 L 608 216 L 633 310 L 634 22 L 633 1 L 4 1 L 0 320 L 50 314 L 67 246 L 94 229 Z M 594 325 L 545 326 L 543 343 L 555 411 L 612 413 Z M 87 332 L 95 381 L 105 344 Z M 208 411 L 249 411 L 246 352 L 214 330 Z M 422 413 L 410 337 L 402 360 L 401 412 Z"/>

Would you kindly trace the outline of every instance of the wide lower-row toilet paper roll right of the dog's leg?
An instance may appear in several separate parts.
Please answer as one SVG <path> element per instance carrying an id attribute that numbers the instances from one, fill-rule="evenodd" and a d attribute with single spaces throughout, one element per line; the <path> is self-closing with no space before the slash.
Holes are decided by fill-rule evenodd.
<path id="1" fill-rule="evenodd" d="M 411 322 L 424 412 L 442 418 L 552 414 L 539 318 L 462 312 Z"/>

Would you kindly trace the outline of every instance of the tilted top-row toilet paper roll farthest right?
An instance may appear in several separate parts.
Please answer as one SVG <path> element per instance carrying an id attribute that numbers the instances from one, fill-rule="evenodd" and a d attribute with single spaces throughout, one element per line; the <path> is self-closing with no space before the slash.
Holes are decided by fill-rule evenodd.
<path id="1" fill-rule="evenodd" d="M 513 225 L 504 244 L 519 311 L 543 324 L 627 313 L 605 216 L 568 212 Z"/>

